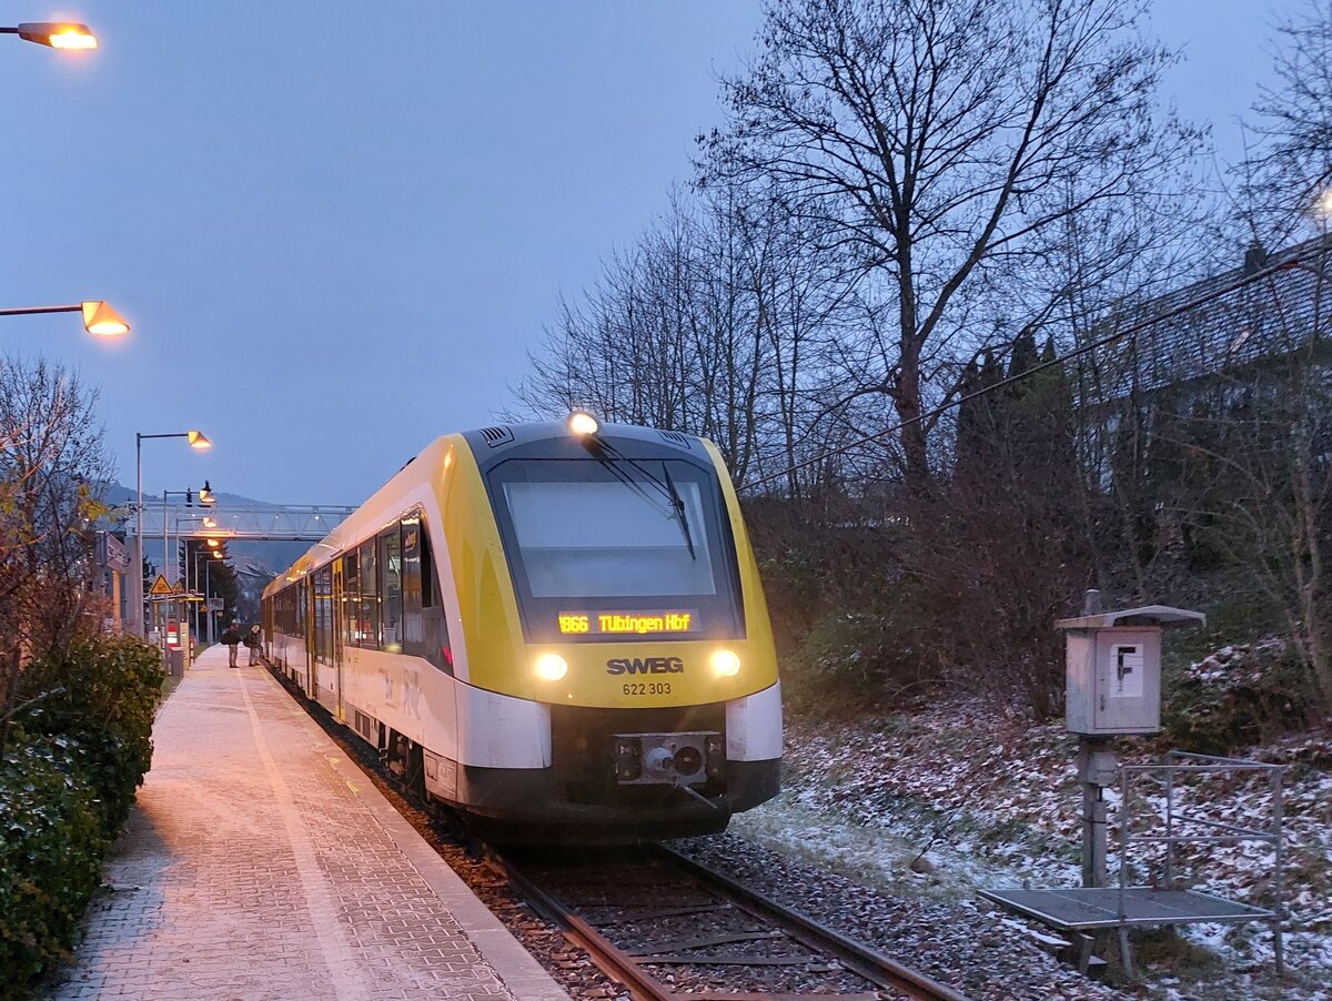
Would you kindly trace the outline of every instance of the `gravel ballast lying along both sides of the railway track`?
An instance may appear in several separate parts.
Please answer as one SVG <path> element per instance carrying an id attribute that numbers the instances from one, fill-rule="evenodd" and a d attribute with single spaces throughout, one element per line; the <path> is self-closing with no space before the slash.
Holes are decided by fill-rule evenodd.
<path id="1" fill-rule="evenodd" d="M 374 771 L 377 760 L 366 745 L 353 740 L 344 728 L 330 725 L 326 719 L 321 719 L 321 713 L 313 715 L 362 763 L 381 792 L 571 997 L 627 1001 L 629 993 L 597 969 L 586 953 L 571 945 L 558 928 L 538 917 L 509 888 L 502 875 L 442 832 L 424 811 L 412 805 L 396 787 L 386 783 Z M 807 801 L 809 792 L 806 789 L 798 797 L 783 793 L 782 800 L 755 812 L 767 813 L 758 823 L 751 821 L 754 815 L 745 815 L 733 824 L 730 832 L 679 840 L 671 843 L 671 847 L 978 1001 L 1126 997 L 1181 1001 L 1243 996 L 1227 994 L 1223 984 L 1213 985 L 1220 993 L 1211 993 L 1205 988 L 1200 990 L 1196 984 L 1181 988 L 1177 986 L 1179 981 L 1171 978 L 1162 978 L 1155 985 L 1116 990 L 1082 977 L 1039 948 L 1036 938 L 1022 922 L 990 909 L 983 901 L 975 900 L 974 895 L 932 892 L 930 887 L 936 887 L 939 881 L 935 875 L 920 873 L 919 868 L 908 867 L 912 873 L 903 883 L 900 872 L 892 881 L 886 881 L 882 872 L 868 871 L 864 860 L 878 851 L 875 840 L 887 841 L 890 833 L 883 829 L 866 831 L 863 823 L 854 820 L 830 821 L 823 809 L 811 815 L 818 824 L 810 824 L 810 817 L 802 812 L 802 804 L 795 801 Z M 782 828 L 781 837 L 773 836 L 774 824 Z M 836 861 L 836 852 L 821 851 L 834 839 L 846 836 L 858 837 L 862 844 L 867 840 L 871 845 L 870 852 L 862 849 L 852 856 L 855 863 L 851 867 L 846 864 L 844 855 Z M 803 844 L 799 844 L 802 840 Z M 932 868 L 931 856 L 938 860 L 934 852 L 922 856 L 920 868 Z M 955 860 L 950 859 L 946 864 L 952 861 Z M 992 860 L 987 861 L 992 864 Z M 984 868 L 990 867 L 978 861 L 976 869 Z M 915 876 L 916 873 L 919 875 Z M 912 892 L 910 885 L 912 876 L 919 880 L 918 892 Z M 703 981 L 693 973 L 677 973 L 677 986 L 682 992 L 703 986 Z M 1229 984 L 1239 986 L 1235 981 Z M 709 985 L 715 989 L 718 982 L 709 981 Z M 1252 986 L 1251 981 L 1249 985 Z M 807 986 L 815 986 L 814 981 L 793 982 L 787 989 Z M 826 990 L 831 985 L 821 986 Z M 855 988 L 846 984 L 843 989 Z M 1303 994 L 1291 994 L 1295 996 Z"/>

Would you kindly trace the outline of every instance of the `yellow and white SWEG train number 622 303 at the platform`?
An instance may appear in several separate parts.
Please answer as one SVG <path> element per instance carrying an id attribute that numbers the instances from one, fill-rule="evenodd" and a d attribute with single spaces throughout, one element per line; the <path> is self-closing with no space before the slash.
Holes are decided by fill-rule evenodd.
<path id="1" fill-rule="evenodd" d="M 778 791 L 767 607 L 705 439 L 583 413 L 445 435 L 264 618 L 309 698 L 506 837 L 719 831 Z"/>

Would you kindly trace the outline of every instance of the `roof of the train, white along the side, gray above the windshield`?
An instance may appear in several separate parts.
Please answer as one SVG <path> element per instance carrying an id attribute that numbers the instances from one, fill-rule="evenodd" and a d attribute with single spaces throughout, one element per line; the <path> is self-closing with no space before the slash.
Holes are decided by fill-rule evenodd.
<path id="1" fill-rule="evenodd" d="M 428 470 L 437 469 L 437 463 L 444 462 L 448 453 L 460 437 L 472 449 L 478 467 L 485 471 L 513 453 L 522 453 L 523 446 L 550 441 L 553 438 L 569 438 L 569 426 L 563 421 L 545 421 L 539 423 L 511 423 L 477 427 L 468 431 L 444 434 L 432 441 L 425 449 L 408 459 L 398 471 L 378 490 L 376 490 L 356 511 L 353 511 L 341 524 L 314 543 L 290 567 L 280 574 L 268 587 L 264 596 L 280 590 L 281 586 L 318 570 L 334 554 L 341 552 L 348 546 L 361 539 L 374 535 L 390 520 L 402 512 L 402 497 L 412 491 L 421 479 L 429 477 Z M 666 431 L 655 427 L 641 427 L 638 425 L 601 425 L 601 437 L 614 438 L 618 442 L 639 442 L 654 450 L 679 450 L 691 455 L 695 461 L 707 461 L 707 451 L 703 439 L 698 435 L 683 434 L 682 431 Z"/>

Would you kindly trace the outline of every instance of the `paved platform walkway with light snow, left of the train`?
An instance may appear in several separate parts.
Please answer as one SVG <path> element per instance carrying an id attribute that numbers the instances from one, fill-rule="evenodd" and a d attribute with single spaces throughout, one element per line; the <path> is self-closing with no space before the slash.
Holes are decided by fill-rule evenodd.
<path id="1" fill-rule="evenodd" d="M 52 997 L 567 997 L 264 668 L 205 651 L 153 741 Z"/>

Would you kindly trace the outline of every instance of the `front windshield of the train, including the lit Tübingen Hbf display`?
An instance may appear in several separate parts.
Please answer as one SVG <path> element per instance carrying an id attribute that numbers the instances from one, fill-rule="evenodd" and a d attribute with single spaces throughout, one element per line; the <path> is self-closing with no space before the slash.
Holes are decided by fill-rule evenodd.
<path id="1" fill-rule="evenodd" d="M 518 459 L 492 486 L 529 638 L 739 635 L 734 543 L 710 470 Z"/>

